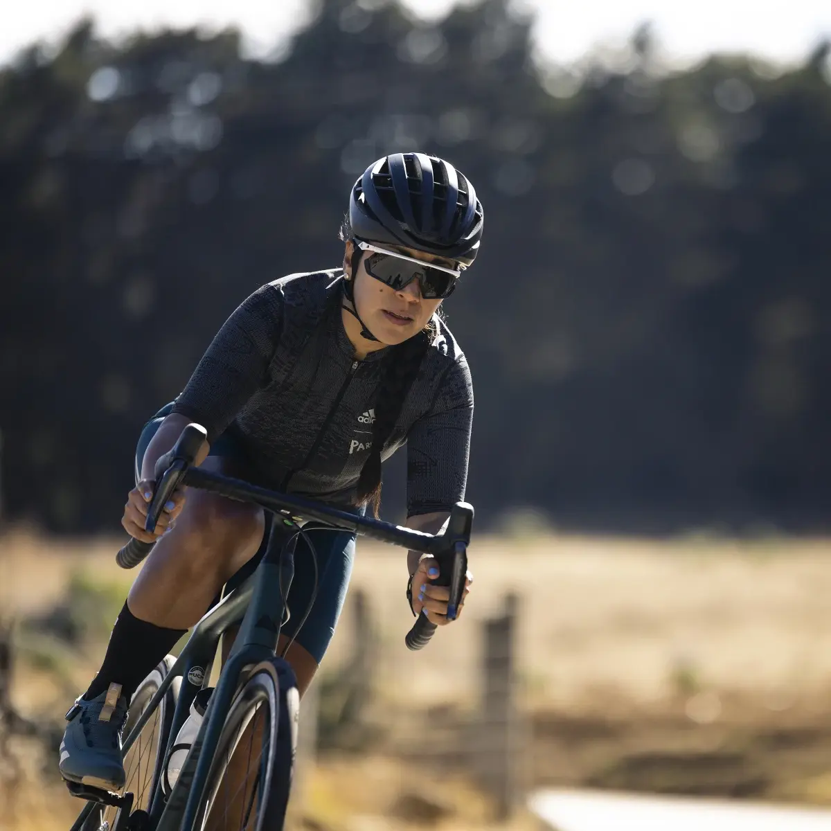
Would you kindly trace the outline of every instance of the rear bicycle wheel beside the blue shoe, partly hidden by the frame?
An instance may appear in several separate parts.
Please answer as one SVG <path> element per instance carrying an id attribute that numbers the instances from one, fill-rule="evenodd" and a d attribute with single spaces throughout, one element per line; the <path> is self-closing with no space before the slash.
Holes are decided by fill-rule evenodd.
<path id="1" fill-rule="evenodd" d="M 130 735 L 132 725 L 139 720 L 140 715 L 145 711 L 145 707 L 150 703 L 150 699 L 155 695 L 161 682 L 170 672 L 175 660 L 175 656 L 165 656 L 155 669 L 145 677 L 145 680 L 140 683 L 130 699 L 124 735 Z M 179 686 L 180 679 L 174 679 L 165 696 L 159 702 L 156 715 L 150 718 L 144 730 L 141 731 L 130 750 L 127 751 L 124 760 L 125 773 L 127 774 L 124 793 L 131 790 L 134 794 L 130 813 L 150 809 L 150 795 L 153 793 L 156 782 L 159 781 L 165 763 L 165 749 L 170 738 L 170 726 L 173 723 Z M 149 730 L 151 732 L 147 740 L 142 740 L 142 737 Z M 120 819 L 120 811 L 120 808 L 112 806 L 97 806 L 86 819 L 83 826 L 84 831 L 115 828 L 116 822 Z"/>

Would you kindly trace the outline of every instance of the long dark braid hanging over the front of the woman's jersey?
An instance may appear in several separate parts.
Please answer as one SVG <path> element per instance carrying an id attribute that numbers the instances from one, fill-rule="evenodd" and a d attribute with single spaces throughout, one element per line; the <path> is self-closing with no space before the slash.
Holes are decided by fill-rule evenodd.
<path id="1" fill-rule="evenodd" d="M 378 387 L 375 423 L 372 425 L 372 450 L 361 468 L 357 484 L 358 499 L 371 507 L 376 519 L 381 506 L 381 450 L 396 428 L 404 399 L 430 346 L 431 334 L 432 325 L 396 347 L 390 347 L 381 367 L 381 385 Z"/>

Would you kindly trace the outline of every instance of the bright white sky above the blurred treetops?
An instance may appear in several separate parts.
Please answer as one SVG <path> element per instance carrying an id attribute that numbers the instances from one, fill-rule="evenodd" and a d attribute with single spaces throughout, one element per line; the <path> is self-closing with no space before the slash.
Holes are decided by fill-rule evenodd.
<path id="1" fill-rule="evenodd" d="M 370 6 L 379 0 L 356 0 Z M 435 17 L 453 0 L 404 0 L 421 17 Z M 516 0 L 537 12 L 534 35 L 543 55 L 570 62 L 598 45 L 620 45 L 650 20 L 666 57 L 682 63 L 706 52 L 755 52 L 777 62 L 799 61 L 820 37 L 831 37 L 831 0 Z M 117 36 L 161 24 L 209 27 L 237 23 L 252 51 L 264 52 L 305 17 L 307 0 L 17 0 L 2 13 L 0 63 L 37 39 L 54 42 L 83 12 L 99 32 Z"/>

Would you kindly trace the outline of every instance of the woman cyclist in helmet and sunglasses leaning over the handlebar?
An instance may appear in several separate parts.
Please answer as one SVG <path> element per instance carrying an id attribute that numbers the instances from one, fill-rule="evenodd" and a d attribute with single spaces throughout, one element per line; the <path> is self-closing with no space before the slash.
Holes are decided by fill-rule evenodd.
<path id="1" fill-rule="evenodd" d="M 145 425 L 138 484 L 121 524 L 155 548 L 116 619 L 101 670 L 67 713 L 61 774 L 119 791 L 120 731 L 130 696 L 204 615 L 226 583 L 263 555 L 263 510 L 204 491 L 175 494 L 144 530 L 156 460 L 190 421 L 208 438 L 197 462 L 273 489 L 377 512 L 381 461 L 407 445 L 407 524 L 435 533 L 463 499 L 473 390 L 465 356 L 438 314 L 473 263 L 483 214 L 448 162 L 389 155 L 352 188 L 342 269 L 292 274 L 259 288 L 224 323 L 176 400 Z M 166 532 L 166 533 L 165 533 Z M 309 532 L 318 588 L 298 541 L 289 617 L 278 649 L 306 690 L 332 638 L 355 537 Z M 443 625 L 448 589 L 435 560 L 411 552 L 414 613 Z M 465 590 L 465 594 L 467 591 Z"/>

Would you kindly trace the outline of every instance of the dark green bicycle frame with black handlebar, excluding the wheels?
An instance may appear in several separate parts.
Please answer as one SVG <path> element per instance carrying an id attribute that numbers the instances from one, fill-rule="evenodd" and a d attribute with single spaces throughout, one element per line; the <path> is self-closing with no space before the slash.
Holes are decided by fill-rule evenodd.
<path id="1" fill-rule="evenodd" d="M 268 532 L 267 548 L 257 569 L 199 620 L 174 666 L 122 745 L 125 753 L 130 750 L 160 705 L 165 692 L 175 678 L 180 676 L 185 683 L 179 692 L 165 753 L 162 756 L 166 762 L 167 750 L 188 717 L 196 693 L 209 680 L 219 638 L 230 627 L 242 621 L 234 640 L 234 647 L 210 697 L 199 734 L 167 799 L 165 800 L 162 794 L 160 781 L 157 780 L 153 786 L 149 813 L 150 828 L 155 831 L 179 831 L 193 827 L 199 809 L 199 799 L 208 784 L 210 766 L 240 677 L 246 667 L 273 659 L 277 652 L 285 612 L 283 597 L 288 594 L 294 574 L 294 548 L 297 536 L 302 530 L 300 523 L 306 519 L 316 519 L 329 528 L 352 531 L 443 559 L 445 564 L 451 566 L 447 569 L 442 568 L 442 576 L 446 578 L 446 583 L 451 585 L 452 614 L 451 608 L 448 612 L 452 619 L 455 617 L 452 598 L 458 603 L 464 589 L 464 568 L 461 567 L 461 563 L 463 558 L 466 563 L 465 548 L 470 540 L 473 519 L 473 509 L 470 505 L 459 503 L 451 512 L 450 522 L 444 534 L 425 534 L 415 529 L 332 508 L 310 499 L 279 494 L 240 479 L 198 468 L 186 470 L 182 482 L 190 487 L 223 494 L 231 499 L 258 504 L 273 514 L 273 521 Z M 152 513 L 152 510 L 153 506 L 149 513 Z M 153 523 L 155 525 L 155 519 Z M 419 620 L 416 623 L 418 625 L 422 622 Z M 96 806 L 93 802 L 87 804 L 81 810 L 71 831 L 81 831 L 86 818 Z M 120 823 L 112 831 L 120 831 L 118 825 Z"/>

